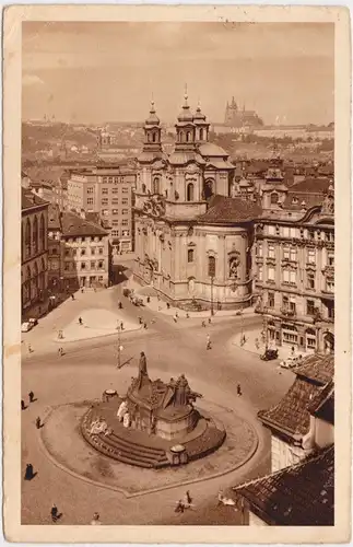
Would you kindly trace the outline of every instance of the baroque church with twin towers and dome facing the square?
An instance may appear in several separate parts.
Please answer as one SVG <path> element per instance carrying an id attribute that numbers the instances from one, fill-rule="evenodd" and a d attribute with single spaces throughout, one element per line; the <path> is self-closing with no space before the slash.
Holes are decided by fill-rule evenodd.
<path id="1" fill-rule="evenodd" d="M 235 196 L 228 154 L 209 141 L 200 106 L 185 103 L 166 154 L 152 102 L 138 158 L 134 278 L 185 309 L 251 304 L 254 200 Z"/>

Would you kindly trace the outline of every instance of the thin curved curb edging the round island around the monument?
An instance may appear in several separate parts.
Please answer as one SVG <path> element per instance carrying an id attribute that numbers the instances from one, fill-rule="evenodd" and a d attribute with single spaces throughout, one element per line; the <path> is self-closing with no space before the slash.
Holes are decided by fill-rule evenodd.
<path id="1" fill-rule="evenodd" d="M 56 405 L 55 407 L 49 407 L 49 411 L 48 411 L 48 414 L 45 415 L 44 419 L 47 420 L 51 416 L 52 411 L 56 408 L 59 408 L 61 406 L 72 406 L 72 405 L 74 405 L 74 403 L 68 403 L 68 404 L 64 404 L 64 405 Z M 225 407 L 223 407 L 223 408 L 225 408 Z M 252 446 L 251 446 L 250 451 L 247 453 L 247 455 L 237 465 L 235 465 L 235 466 L 233 466 L 233 467 L 231 467 L 228 469 L 225 469 L 224 472 L 219 472 L 219 473 L 214 473 L 212 475 L 209 475 L 208 477 L 195 478 L 195 479 L 189 479 L 189 480 L 183 480 L 183 481 L 180 481 L 178 484 L 165 485 L 165 486 L 161 486 L 161 487 L 156 487 L 156 488 L 150 488 L 150 489 L 141 490 L 139 492 L 133 492 L 133 493 L 129 492 L 128 490 L 125 490 L 123 488 L 119 488 L 117 486 L 105 485 L 105 484 L 102 484 L 102 482 L 99 482 L 97 480 L 90 479 L 89 477 L 85 477 L 84 475 L 81 475 L 81 474 L 79 474 L 79 473 L 70 469 L 69 467 L 66 467 L 63 464 L 61 464 L 60 462 L 58 462 L 54 457 L 54 455 L 49 452 L 49 450 L 45 445 L 45 442 L 43 440 L 43 432 L 39 433 L 39 445 L 40 445 L 42 452 L 47 456 L 47 458 L 52 463 L 52 465 L 55 465 L 56 467 L 58 467 L 62 472 L 71 475 L 72 477 L 74 477 L 74 478 L 77 478 L 79 480 L 87 482 L 87 484 L 90 484 L 92 486 L 122 493 L 127 499 L 130 499 L 130 498 L 138 498 L 138 497 L 141 497 L 141 496 L 148 496 L 150 493 L 156 493 L 156 492 L 160 492 L 160 491 L 163 491 L 163 490 L 172 490 L 174 488 L 179 488 L 179 487 L 183 487 L 183 486 L 188 486 L 188 485 L 193 485 L 193 484 L 197 484 L 197 482 L 203 482 L 203 481 L 207 481 L 207 480 L 212 480 L 212 479 L 215 479 L 217 477 L 222 477 L 224 475 L 228 475 L 230 473 L 233 473 L 233 472 L 239 469 L 240 467 L 243 467 L 245 464 L 247 464 L 255 456 L 255 454 L 256 454 L 256 452 L 258 450 L 258 446 L 259 446 L 259 437 L 258 437 L 258 434 L 257 434 L 254 426 L 251 423 L 249 423 L 247 420 L 245 420 L 243 417 L 242 417 L 242 419 L 246 422 L 246 424 L 251 430 L 255 440 L 254 440 L 254 443 L 252 443 Z M 104 456 L 104 457 L 107 457 L 107 456 Z"/>

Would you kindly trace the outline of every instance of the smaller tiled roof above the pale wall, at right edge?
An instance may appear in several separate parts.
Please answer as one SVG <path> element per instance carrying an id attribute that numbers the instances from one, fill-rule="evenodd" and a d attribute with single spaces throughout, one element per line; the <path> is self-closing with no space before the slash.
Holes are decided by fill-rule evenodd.
<path id="1" fill-rule="evenodd" d="M 264 426 L 299 440 L 309 429 L 311 401 L 333 377 L 333 356 L 310 356 L 295 374 L 292 387 L 280 403 L 260 410 L 258 418 Z"/>

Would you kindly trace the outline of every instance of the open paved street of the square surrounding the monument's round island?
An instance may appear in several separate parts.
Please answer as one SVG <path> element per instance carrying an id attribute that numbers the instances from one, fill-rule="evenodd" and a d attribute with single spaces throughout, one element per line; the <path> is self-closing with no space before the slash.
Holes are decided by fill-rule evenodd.
<path id="1" fill-rule="evenodd" d="M 136 322 L 139 315 L 143 315 L 148 323 L 148 329 L 122 334 L 121 361 L 128 363 L 121 371 L 116 369 L 118 335 L 67 342 L 66 354 L 58 357 L 58 344 L 52 341 L 55 327 L 64 328 L 85 309 L 105 307 L 117 312 L 119 300 L 123 302 L 121 313 L 127 322 Z M 22 463 L 24 469 L 31 462 L 38 474 L 32 481 L 22 479 L 23 523 L 48 524 L 52 503 L 63 513 L 62 524 L 86 524 L 95 511 L 99 512 L 103 524 L 239 522 L 235 511 L 216 508 L 217 491 L 269 470 L 269 438 L 257 422 L 256 414 L 276 403 L 293 381 L 292 373 L 280 371 L 278 363 L 262 362 L 258 356 L 232 344 L 242 324 L 244 329 L 254 329 L 259 326 L 260 318 L 215 317 L 207 328 L 201 326 L 198 317 L 180 318 L 175 324 L 172 316 L 133 306 L 121 296 L 117 287 L 101 293 L 78 294 L 75 301 L 64 303 L 61 310 L 55 310 L 33 331 L 25 334 L 24 338 L 34 351 L 30 354 L 25 348 L 23 351 L 22 397 L 27 400 L 27 393 L 33 389 L 37 400 L 22 412 Z M 205 349 L 207 333 L 210 333 L 213 345 L 210 351 Z M 192 388 L 201 392 L 208 400 L 236 408 L 255 426 L 259 435 L 258 452 L 242 469 L 190 487 L 196 510 L 184 515 L 174 513 L 174 505 L 186 487 L 126 499 L 52 465 L 38 443 L 34 424 L 37 416 L 44 416 L 52 405 L 99 398 L 103 389 L 108 387 L 126 388 L 137 373 L 140 351 L 148 357 L 152 377 L 167 380 L 185 373 Z M 237 383 L 242 385 L 243 397 L 236 396 Z"/>

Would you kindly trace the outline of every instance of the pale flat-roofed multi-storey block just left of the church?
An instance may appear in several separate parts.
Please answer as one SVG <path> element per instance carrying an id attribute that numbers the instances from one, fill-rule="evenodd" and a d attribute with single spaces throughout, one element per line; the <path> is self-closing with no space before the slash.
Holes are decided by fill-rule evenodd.
<path id="1" fill-rule="evenodd" d="M 68 181 L 68 209 L 98 212 L 114 252 L 133 251 L 132 168 L 98 166 L 77 171 Z"/>

